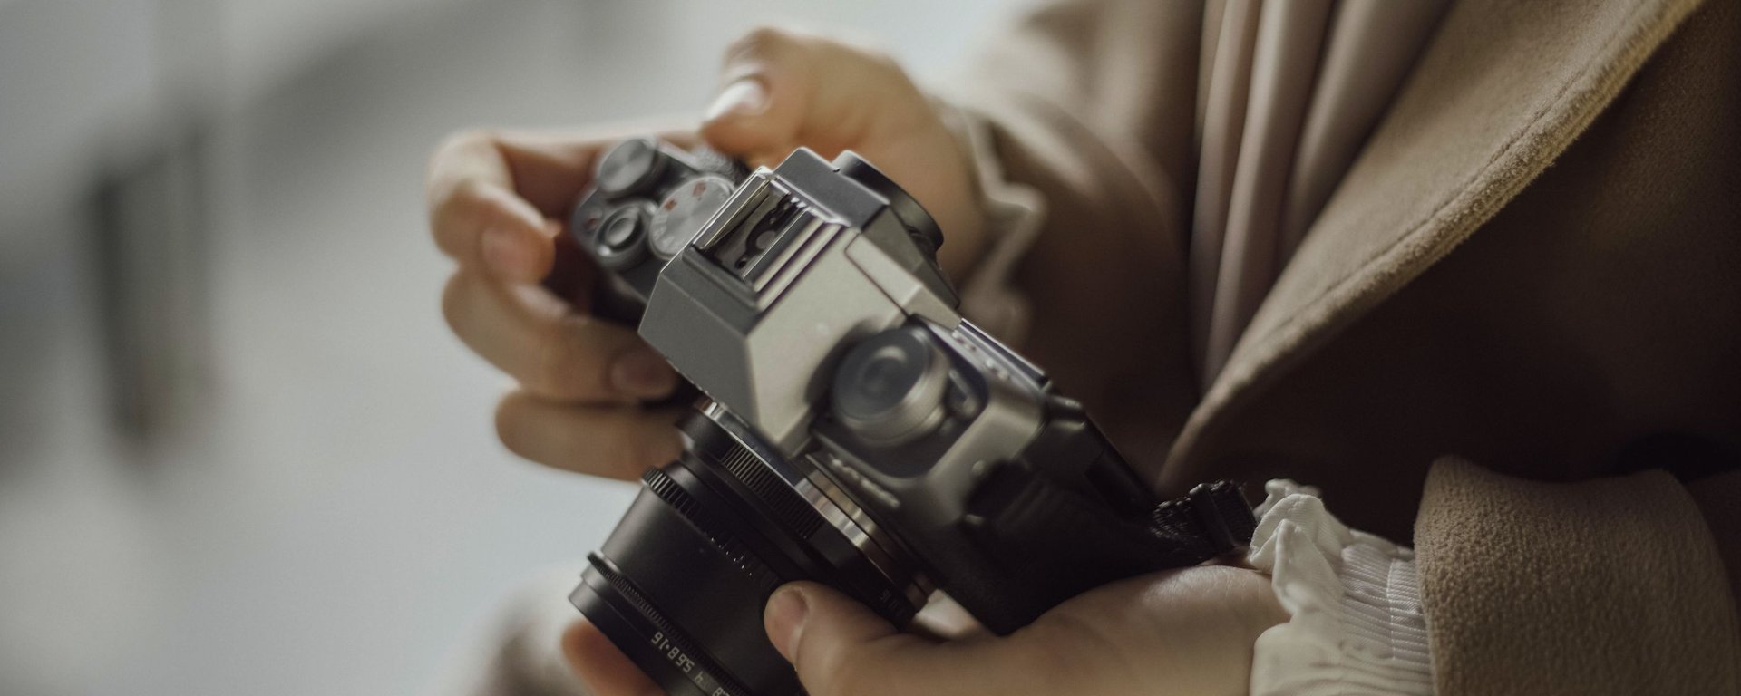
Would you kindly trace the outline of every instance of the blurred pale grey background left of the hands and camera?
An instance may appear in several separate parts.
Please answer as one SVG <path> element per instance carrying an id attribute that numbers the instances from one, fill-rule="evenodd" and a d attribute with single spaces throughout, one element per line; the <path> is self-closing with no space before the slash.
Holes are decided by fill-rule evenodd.
<path id="1" fill-rule="evenodd" d="M 0 694 L 439 693 L 634 489 L 507 454 L 421 176 L 700 113 L 761 23 L 938 77 L 999 0 L 0 0 Z"/>

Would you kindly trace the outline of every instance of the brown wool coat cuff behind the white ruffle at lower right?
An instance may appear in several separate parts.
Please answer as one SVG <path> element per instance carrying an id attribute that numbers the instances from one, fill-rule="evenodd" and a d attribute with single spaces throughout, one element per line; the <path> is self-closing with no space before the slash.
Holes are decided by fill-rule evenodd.
<path id="1" fill-rule="evenodd" d="M 1415 519 L 1440 694 L 1734 694 L 1741 633 L 1720 546 L 1663 472 L 1543 484 L 1440 461 Z"/>

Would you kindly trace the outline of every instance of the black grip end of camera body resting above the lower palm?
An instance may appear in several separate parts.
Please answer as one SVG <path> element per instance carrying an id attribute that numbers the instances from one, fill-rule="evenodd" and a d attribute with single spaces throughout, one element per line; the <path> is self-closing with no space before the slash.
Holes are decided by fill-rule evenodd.
<path id="1" fill-rule="evenodd" d="M 985 473 L 954 532 L 912 541 L 938 586 L 1008 633 L 1092 588 L 1233 553 L 1255 524 L 1233 482 L 1158 501 L 1086 414 L 1055 398 L 1045 432 Z"/>

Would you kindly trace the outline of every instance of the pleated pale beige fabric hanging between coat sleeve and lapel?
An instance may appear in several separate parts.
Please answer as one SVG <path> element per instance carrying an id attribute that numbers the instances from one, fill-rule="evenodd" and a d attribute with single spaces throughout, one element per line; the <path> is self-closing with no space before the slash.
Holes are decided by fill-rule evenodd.
<path id="1" fill-rule="evenodd" d="M 1205 17 L 1193 346 L 1212 379 L 1408 75 L 1443 0 L 1226 0 Z"/>

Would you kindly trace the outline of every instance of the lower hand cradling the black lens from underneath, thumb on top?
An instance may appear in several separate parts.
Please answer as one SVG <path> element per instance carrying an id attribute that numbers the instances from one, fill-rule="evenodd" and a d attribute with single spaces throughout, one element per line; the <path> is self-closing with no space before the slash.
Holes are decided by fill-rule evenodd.
<path id="1" fill-rule="evenodd" d="M 813 696 L 1243 694 L 1252 644 L 1287 612 L 1269 578 L 1201 566 L 1090 590 L 1008 637 L 902 633 L 817 583 L 782 586 L 763 621 Z M 562 647 L 599 696 L 660 693 L 585 621 Z"/>

